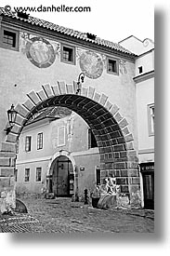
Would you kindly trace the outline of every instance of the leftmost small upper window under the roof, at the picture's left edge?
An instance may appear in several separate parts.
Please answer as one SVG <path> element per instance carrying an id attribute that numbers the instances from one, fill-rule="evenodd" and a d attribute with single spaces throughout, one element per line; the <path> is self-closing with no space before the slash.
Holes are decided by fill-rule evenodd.
<path id="1" fill-rule="evenodd" d="M 0 46 L 8 49 L 19 50 L 19 32 L 2 27 Z"/>

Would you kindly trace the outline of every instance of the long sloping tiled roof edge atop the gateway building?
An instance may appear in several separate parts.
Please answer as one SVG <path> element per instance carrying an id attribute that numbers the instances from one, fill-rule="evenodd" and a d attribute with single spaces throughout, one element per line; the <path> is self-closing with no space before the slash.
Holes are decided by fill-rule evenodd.
<path id="1" fill-rule="evenodd" d="M 36 26 L 39 26 L 39 27 L 44 27 L 47 30 L 56 31 L 59 34 L 66 34 L 66 35 L 72 36 L 74 38 L 84 40 L 86 42 L 91 42 L 94 45 L 98 45 L 98 46 L 102 46 L 102 47 L 108 47 L 108 48 L 111 48 L 113 50 L 117 50 L 117 51 L 120 51 L 120 52 L 123 52 L 123 53 L 127 53 L 131 56 L 135 56 L 134 53 L 130 52 L 128 49 L 125 49 L 124 47 L 121 47 L 119 44 L 112 43 L 111 41 L 104 40 L 104 39 L 101 39 L 99 37 L 96 37 L 95 40 L 92 40 L 92 39 L 89 39 L 87 37 L 86 33 L 81 33 L 81 32 L 78 32 L 78 31 L 63 27 L 63 26 L 59 26 L 57 24 L 54 24 L 54 23 L 46 21 L 46 20 L 33 18 L 30 15 L 29 15 L 28 20 L 24 20 L 24 19 L 21 19 L 21 18 L 18 17 L 17 12 L 5 10 L 5 8 L 3 8 L 3 7 L 0 7 L 0 15 L 7 16 L 7 17 L 10 17 L 10 18 L 16 19 L 16 20 L 22 20 L 22 21 L 24 21 L 26 23 L 29 23 L 29 24 L 32 24 L 32 25 L 36 25 Z"/>

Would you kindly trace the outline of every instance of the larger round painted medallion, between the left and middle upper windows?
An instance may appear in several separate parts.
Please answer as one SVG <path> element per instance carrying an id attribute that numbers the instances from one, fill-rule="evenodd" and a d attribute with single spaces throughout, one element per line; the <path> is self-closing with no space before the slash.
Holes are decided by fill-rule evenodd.
<path id="1" fill-rule="evenodd" d="M 54 48 L 42 37 L 33 37 L 27 42 L 27 58 L 39 68 L 49 67 L 56 59 Z"/>

